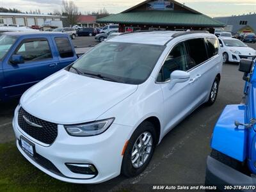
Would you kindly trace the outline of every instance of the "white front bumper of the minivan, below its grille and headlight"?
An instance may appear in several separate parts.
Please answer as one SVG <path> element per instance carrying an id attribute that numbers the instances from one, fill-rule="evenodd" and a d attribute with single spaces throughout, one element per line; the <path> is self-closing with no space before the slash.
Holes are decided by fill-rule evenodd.
<path id="1" fill-rule="evenodd" d="M 51 177 L 65 182 L 95 184 L 112 179 L 120 174 L 122 150 L 132 127 L 112 124 L 98 136 L 74 137 L 67 134 L 63 125 L 58 125 L 58 136 L 52 145 L 44 145 L 31 138 L 17 123 L 18 109 L 13 118 L 13 129 L 17 138 L 17 148 L 28 161 Z M 35 144 L 36 159 L 20 147 L 20 136 Z M 37 157 L 40 157 L 38 160 Z M 42 160 L 48 166 L 42 164 Z M 97 175 L 71 172 L 65 163 L 93 164 Z M 49 166 L 50 164 L 50 166 Z"/>

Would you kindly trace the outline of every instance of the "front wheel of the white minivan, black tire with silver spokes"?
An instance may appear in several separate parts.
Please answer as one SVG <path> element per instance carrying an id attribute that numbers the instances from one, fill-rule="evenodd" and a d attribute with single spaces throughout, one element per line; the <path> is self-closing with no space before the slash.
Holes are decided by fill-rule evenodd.
<path id="1" fill-rule="evenodd" d="M 140 175 L 147 168 L 156 147 L 156 130 L 151 122 L 142 122 L 132 134 L 124 153 L 121 173 Z"/>

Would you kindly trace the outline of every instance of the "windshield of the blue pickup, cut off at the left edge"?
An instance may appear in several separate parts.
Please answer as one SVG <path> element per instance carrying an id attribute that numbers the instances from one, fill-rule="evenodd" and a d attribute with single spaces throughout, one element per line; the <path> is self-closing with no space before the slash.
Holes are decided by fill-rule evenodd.
<path id="1" fill-rule="evenodd" d="M 0 60 L 3 60 L 3 57 L 16 42 L 16 39 L 15 36 L 0 35 Z"/>

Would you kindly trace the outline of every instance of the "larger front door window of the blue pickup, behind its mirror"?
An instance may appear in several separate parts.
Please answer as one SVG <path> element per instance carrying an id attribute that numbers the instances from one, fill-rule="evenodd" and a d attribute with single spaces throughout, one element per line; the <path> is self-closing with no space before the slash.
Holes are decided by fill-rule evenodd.
<path id="1" fill-rule="evenodd" d="M 52 52 L 46 39 L 26 40 L 15 52 L 24 58 L 24 62 L 40 61 L 52 58 Z"/>

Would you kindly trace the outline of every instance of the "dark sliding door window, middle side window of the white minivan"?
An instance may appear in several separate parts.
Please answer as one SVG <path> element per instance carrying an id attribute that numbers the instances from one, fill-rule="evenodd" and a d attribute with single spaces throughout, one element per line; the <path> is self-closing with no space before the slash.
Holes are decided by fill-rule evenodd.
<path id="1" fill-rule="evenodd" d="M 208 60 L 204 38 L 187 40 L 186 45 L 188 47 L 188 69 Z"/>

